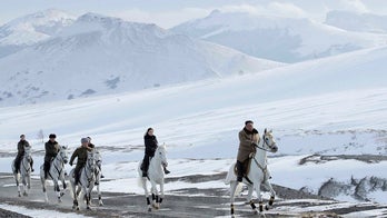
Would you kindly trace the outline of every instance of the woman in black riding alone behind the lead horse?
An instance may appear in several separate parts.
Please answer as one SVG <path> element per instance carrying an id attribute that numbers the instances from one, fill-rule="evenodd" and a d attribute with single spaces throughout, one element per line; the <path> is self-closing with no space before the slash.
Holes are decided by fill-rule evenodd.
<path id="1" fill-rule="evenodd" d="M 145 133 L 143 143 L 146 149 L 145 149 L 145 156 L 142 160 L 141 170 L 142 170 L 142 177 L 148 177 L 149 161 L 150 161 L 150 158 L 155 156 L 155 151 L 158 146 L 158 141 L 156 136 L 153 135 L 152 128 L 148 128 L 147 132 Z M 165 166 L 162 167 L 163 167 L 163 172 L 166 175 L 170 174 L 170 171 Z"/>

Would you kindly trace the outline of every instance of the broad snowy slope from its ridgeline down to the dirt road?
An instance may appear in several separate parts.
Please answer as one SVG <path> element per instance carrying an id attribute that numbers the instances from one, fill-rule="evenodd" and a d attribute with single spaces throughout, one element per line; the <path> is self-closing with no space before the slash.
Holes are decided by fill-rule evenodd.
<path id="1" fill-rule="evenodd" d="M 148 127 L 155 128 L 160 143 L 167 143 L 175 176 L 212 175 L 227 171 L 235 161 L 237 132 L 246 119 L 252 119 L 259 131 L 272 128 L 277 138 L 279 156 L 269 157 L 274 184 L 325 195 L 333 189 L 329 195 L 350 201 L 356 201 L 351 195 L 357 184 L 366 198 L 385 202 L 383 187 L 369 188 L 375 178 L 386 179 L 385 160 L 335 156 L 387 155 L 386 58 L 387 47 L 383 47 L 256 75 L 3 107 L 0 152 L 12 152 L 20 133 L 27 135 L 34 151 L 43 150 L 37 137 L 40 130 L 46 138 L 56 132 L 70 150 L 81 137 L 91 136 L 103 153 L 105 175 L 111 179 L 102 189 L 140 194 L 133 169 L 142 157 Z M 322 155 L 333 157 L 324 160 Z M 9 170 L 11 159 L 1 158 L 0 170 Z M 308 161 L 300 164 L 302 159 Z M 117 189 L 122 186 L 128 188 Z M 175 181 L 166 190 L 198 187 L 226 188 L 222 180 Z M 343 187 L 344 192 L 335 191 Z"/>

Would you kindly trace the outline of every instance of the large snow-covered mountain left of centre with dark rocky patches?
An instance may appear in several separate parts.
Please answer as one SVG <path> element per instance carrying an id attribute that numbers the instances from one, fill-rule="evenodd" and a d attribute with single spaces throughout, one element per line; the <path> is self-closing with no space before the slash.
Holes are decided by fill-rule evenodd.
<path id="1" fill-rule="evenodd" d="M 116 93 L 282 66 L 155 24 L 87 13 L 0 59 L 0 106 Z"/>

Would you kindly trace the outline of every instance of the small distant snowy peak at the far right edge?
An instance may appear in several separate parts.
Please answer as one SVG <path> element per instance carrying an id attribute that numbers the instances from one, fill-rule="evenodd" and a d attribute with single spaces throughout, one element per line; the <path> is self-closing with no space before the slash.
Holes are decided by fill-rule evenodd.
<path id="1" fill-rule="evenodd" d="M 387 16 L 330 11 L 325 22 L 349 31 L 387 33 Z"/>

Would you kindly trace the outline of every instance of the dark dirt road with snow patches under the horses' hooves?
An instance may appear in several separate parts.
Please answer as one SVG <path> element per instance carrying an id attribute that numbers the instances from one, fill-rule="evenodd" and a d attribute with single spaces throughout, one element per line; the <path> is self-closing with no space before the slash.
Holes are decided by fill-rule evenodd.
<path id="1" fill-rule="evenodd" d="M 181 179 L 185 181 L 208 179 L 206 176 L 191 176 L 185 178 L 170 178 L 169 180 Z M 210 177 L 216 180 L 225 178 L 224 174 Z M 222 217 L 229 216 L 229 198 L 227 189 L 180 189 L 166 194 L 162 207 L 151 212 L 147 211 L 146 199 L 143 196 L 135 194 L 103 192 L 105 206 L 93 206 L 91 210 L 86 210 L 83 204 L 80 205 L 80 211 L 71 209 L 72 199 L 70 191 L 67 190 L 62 197 L 61 204 L 57 202 L 57 198 L 49 187 L 50 202 L 43 201 L 40 181 L 32 180 L 32 189 L 28 197 L 18 197 L 17 188 L 10 186 L 13 184 L 12 175 L 0 174 L 0 200 L 2 204 L 22 206 L 30 209 L 39 210 L 58 210 L 61 212 L 77 212 L 90 217 Z M 102 184 L 103 185 L 103 184 Z M 321 199 L 318 196 L 304 194 L 302 191 L 292 190 L 279 186 L 274 186 L 278 197 L 281 198 L 275 202 L 275 208 L 266 212 L 266 217 L 339 217 L 351 211 L 385 209 L 387 215 L 387 206 L 358 206 L 358 207 L 338 207 L 336 209 L 327 209 L 320 211 L 309 211 L 307 208 L 316 206 L 329 206 L 338 204 L 333 200 Z M 97 196 L 93 195 L 93 204 L 97 204 Z M 311 200 L 311 199 L 318 199 Z M 245 198 L 238 198 L 236 211 L 238 217 L 250 217 L 252 215 L 249 206 L 245 205 Z M 291 209 L 294 208 L 294 209 Z M 302 209 L 304 208 L 304 209 Z M 7 211 L 0 211 L 7 212 Z M 7 215 L 7 214 L 6 214 Z M 14 215 L 16 216 L 16 215 Z M 1 216 L 3 217 L 3 216 Z M 20 216 L 23 217 L 23 216 Z"/>

